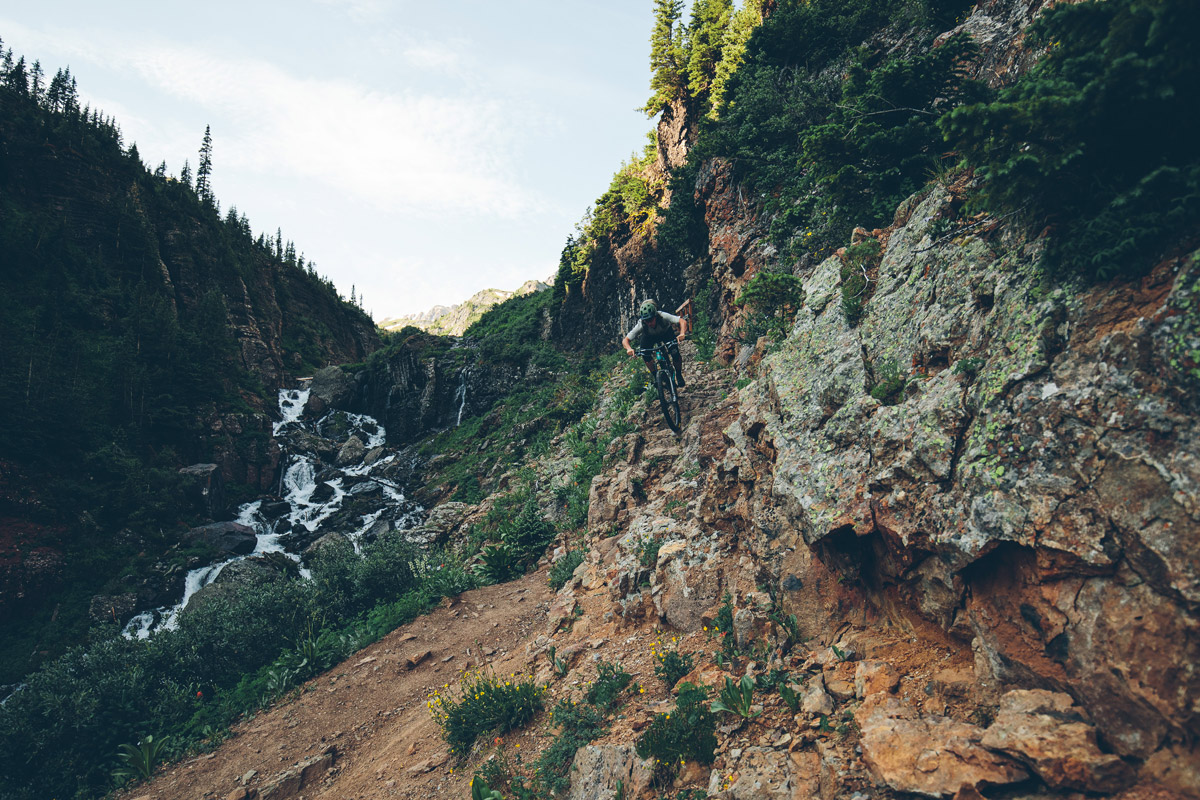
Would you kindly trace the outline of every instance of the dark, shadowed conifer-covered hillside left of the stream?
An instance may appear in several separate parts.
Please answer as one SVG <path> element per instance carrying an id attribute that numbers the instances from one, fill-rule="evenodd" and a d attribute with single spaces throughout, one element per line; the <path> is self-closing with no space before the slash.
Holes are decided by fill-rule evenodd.
<path id="1" fill-rule="evenodd" d="M 271 486 L 277 389 L 379 341 L 290 242 L 151 173 L 70 72 L 6 55 L 0 684 L 84 640 L 124 570 L 167 569 L 181 524 Z"/>

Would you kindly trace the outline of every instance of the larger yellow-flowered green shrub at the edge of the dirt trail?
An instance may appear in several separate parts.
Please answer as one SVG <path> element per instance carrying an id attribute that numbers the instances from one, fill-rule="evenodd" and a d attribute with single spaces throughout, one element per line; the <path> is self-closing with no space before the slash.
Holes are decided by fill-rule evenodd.
<path id="1" fill-rule="evenodd" d="M 541 710 L 545 692 L 532 676 L 510 675 L 502 681 L 492 672 L 479 670 L 462 678 L 454 692 L 457 699 L 445 685 L 426 705 L 450 752 L 464 757 L 480 734 L 504 734 L 533 720 Z"/>

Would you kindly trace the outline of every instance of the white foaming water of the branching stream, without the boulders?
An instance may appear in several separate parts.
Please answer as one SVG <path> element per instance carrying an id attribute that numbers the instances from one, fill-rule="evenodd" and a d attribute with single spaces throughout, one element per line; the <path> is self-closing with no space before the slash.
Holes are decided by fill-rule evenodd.
<path id="1" fill-rule="evenodd" d="M 275 435 L 286 433 L 286 427 L 289 425 L 304 425 L 300 417 L 305 404 L 308 402 L 308 389 L 280 391 L 281 421 L 274 425 Z M 349 433 L 358 435 L 368 449 L 380 447 L 384 445 L 386 440 L 386 431 L 373 417 L 365 414 L 349 414 L 346 411 L 335 411 L 334 414 L 344 415 L 346 422 L 350 428 Z M 332 414 L 326 415 L 316 425 L 316 427 L 320 429 L 320 427 L 331 417 Z M 391 519 L 392 525 L 397 528 L 410 527 L 418 521 L 416 518 L 420 515 L 420 510 L 402 511 L 406 506 L 408 506 L 408 500 L 404 497 L 404 493 L 385 479 L 371 477 L 372 473 L 391 464 L 395 459 L 396 455 L 391 453 L 370 465 L 356 464 L 344 469 L 336 469 L 319 465 L 316 457 L 312 455 L 294 455 L 293 461 L 287 465 L 287 469 L 283 471 L 280 481 L 280 489 L 283 495 L 282 499 L 288 504 L 288 513 L 283 518 L 290 523 L 284 527 L 286 530 L 276 530 L 276 528 L 281 527 L 280 523 L 268 519 L 263 515 L 263 500 L 254 500 L 242 505 L 238 510 L 236 522 L 254 530 L 257 541 L 253 552 L 250 555 L 230 557 L 223 561 L 209 564 L 188 571 L 184 581 L 184 595 L 178 603 L 138 614 L 128 621 L 121 631 L 121 634 L 126 638 L 144 639 L 156 631 L 179 627 L 179 614 L 187 606 L 188 601 L 191 601 L 192 596 L 204 587 L 216 581 L 217 576 L 221 575 L 227 566 L 234 561 L 241 561 L 246 558 L 253 558 L 256 555 L 268 553 L 283 553 L 292 560 L 300 564 L 300 576 L 304 579 L 311 579 L 312 573 L 304 566 L 301 557 L 287 549 L 290 533 L 299 528 L 302 528 L 308 533 L 317 531 L 324 522 L 341 511 L 342 503 L 347 497 L 364 492 L 367 487 L 373 488 L 374 486 L 378 486 L 382 489 L 384 500 L 382 501 L 380 507 L 361 515 L 353 531 L 342 531 L 347 534 L 347 539 L 354 546 L 354 551 L 356 553 L 361 554 L 362 552 L 364 536 L 366 536 L 366 534 L 389 511 L 391 511 L 389 518 Z M 334 476 L 335 474 L 336 476 Z M 325 476 L 328 480 L 318 480 L 318 476 Z M 368 480 L 359 482 L 353 488 L 347 491 L 344 480 L 348 477 L 366 477 Z M 325 497 L 324 500 L 313 500 L 313 495 L 322 485 L 329 487 L 329 489 L 323 493 L 328 497 Z"/>

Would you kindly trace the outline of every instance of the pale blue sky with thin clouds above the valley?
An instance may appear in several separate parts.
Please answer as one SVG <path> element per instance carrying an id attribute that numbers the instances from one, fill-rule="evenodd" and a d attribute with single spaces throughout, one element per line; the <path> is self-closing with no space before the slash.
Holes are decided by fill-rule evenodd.
<path id="1" fill-rule="evenodd" d="M 546 279 L 647 143 L 652 0 L 40 0 L 0 38 L 374 319 Z"/>

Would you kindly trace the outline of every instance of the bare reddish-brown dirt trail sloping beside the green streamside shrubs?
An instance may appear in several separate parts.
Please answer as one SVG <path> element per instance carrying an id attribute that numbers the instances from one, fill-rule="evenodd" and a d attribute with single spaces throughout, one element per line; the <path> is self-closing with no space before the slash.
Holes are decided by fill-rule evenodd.
<path id="1" fill-rule="evenodd" d="M 545 570 L 464 593 L 306 682 L 295 699 L 239 723 L 214 752 L 175 764 L 122 796 L 196 800 L 246 798 L 253 790 L 308 800 L 469 796 L 470 771 L 451 771 L 426 697 L 481 662 L 502 674 L 523 668 L 526 643 L 545 630 L 551 596 Z M 323 753 L 332 754 L 331 770 Z M 314 766 L 299 793 L 287 786 L 270 792 L 271 783 L 308 762 Z"/>

